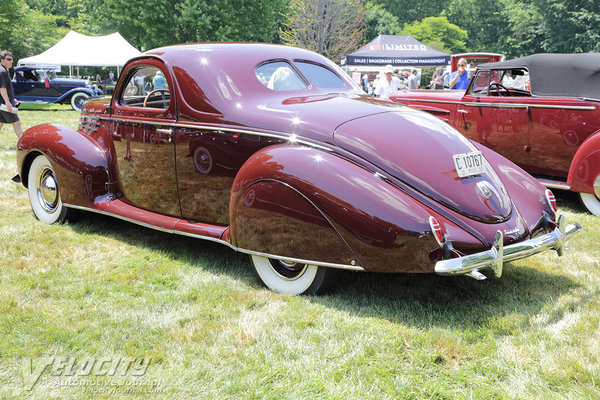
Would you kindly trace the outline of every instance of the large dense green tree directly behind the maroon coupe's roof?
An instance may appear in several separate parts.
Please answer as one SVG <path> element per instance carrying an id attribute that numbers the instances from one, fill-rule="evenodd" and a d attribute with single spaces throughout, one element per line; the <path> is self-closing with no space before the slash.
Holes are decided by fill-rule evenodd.
<path id="1" fill-rule="evenodd" d="M 286 0 L 85 0 L 96 34 L 119 31 L 142 50 L 188 42 L 272 42 Z"/>

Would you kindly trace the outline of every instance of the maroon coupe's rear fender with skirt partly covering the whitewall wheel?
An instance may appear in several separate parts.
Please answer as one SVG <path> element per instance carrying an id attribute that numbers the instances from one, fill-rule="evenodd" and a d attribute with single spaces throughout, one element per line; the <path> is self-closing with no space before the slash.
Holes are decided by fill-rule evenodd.
<path id="1" fill-rule="evenodd" d="M 269 215 L 256 225 L 261 213 Z M 311 259 L 325 252 L 328 260 L 344 264 L 351 253 L 341 249 L 349 248 L 357 263 L 377 272 L 433 272 L 443 254 L 431 232 L 431 215 L 373 172 L 338 155 L 292 145 L 254 154 L 236 176 L 230 200 L 235 246 L 273 240 L 281 256 Z M 344 246 L 321 241 L 322 229 L 335 232 Z"/>

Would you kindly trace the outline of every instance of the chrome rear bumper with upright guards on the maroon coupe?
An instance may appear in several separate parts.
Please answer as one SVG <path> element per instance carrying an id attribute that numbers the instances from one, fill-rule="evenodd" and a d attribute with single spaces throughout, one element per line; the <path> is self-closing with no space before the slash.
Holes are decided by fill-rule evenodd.
<path id="1" fill-rule="evenodd" d="M 556 250 L 559 256 L 565 251 L 565 242 L 581 230 L 581 225 L 573 223 L 565 225 L 565 217 L 558 217 L 558 226 L 554 231 L 524 242 L 504 246 L 504 237 L 501 231 L 496 232 L 494 245 L 490 250 L 470 254 L 464 257 L 451 258 L 438 261 L 435 264 L 435 273 L 439 275 L 467 275 L 475 279 L 485 279 L 479 270 L 492 269 L 496 277 L 502 276 L 504 262 L 518 260 L 545 250 Z"/>

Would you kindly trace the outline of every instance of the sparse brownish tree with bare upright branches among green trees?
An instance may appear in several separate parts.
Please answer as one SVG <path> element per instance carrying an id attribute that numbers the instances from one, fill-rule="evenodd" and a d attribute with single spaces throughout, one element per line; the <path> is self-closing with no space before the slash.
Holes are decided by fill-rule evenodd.
<path id="1" fill-rule="evenodd" d="M 365 36 L 361 0 L 290 0 L 284 43 L 303 47 L 334 62 L 356 50 Z"/>

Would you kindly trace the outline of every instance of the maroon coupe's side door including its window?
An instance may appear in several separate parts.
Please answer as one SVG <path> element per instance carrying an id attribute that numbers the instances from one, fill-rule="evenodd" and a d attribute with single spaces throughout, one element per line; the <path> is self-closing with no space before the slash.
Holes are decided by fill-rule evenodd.
<path id="1" fill-rule="evenodd" d="M 157 75 L 166 85 L 154 89 Z M 124 71 L 113 96 L 112 139 L 123 201 L 162 214 L 181 216 L 175 175 L 174 86 L 167 68 L 153 59 Z"/>

